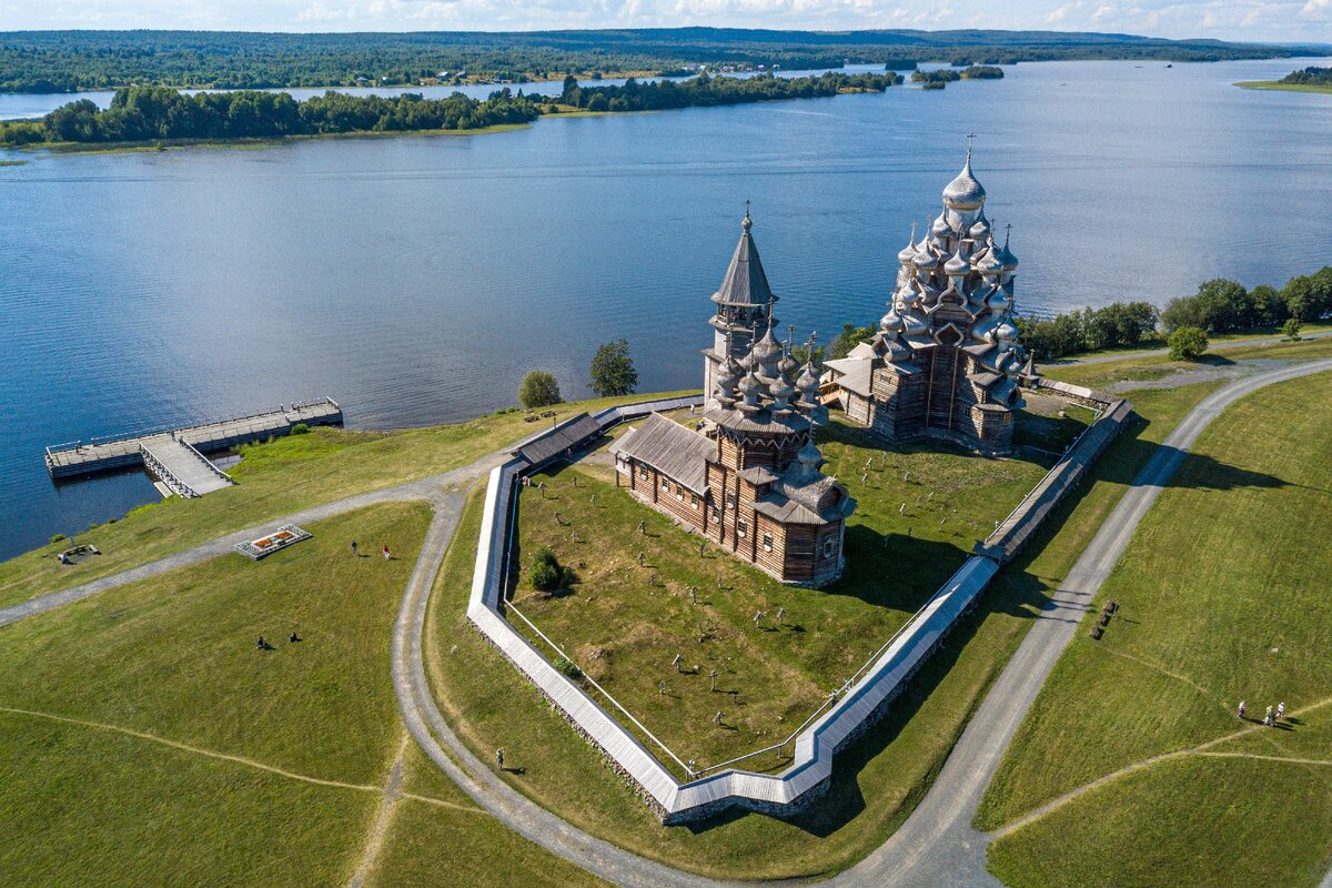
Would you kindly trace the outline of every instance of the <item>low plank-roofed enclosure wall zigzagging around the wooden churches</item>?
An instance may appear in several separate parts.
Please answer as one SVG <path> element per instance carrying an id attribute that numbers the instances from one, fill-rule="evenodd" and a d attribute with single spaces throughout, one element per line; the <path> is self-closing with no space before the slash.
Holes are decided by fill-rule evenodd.
<path id="1" fill-rule="evenodd" d="M 1095 458 L 1131 415 L 1131 405 L 1126 401 L 1112 402 L 1088 389 L 1066 394 L 1096 401 L 1102 407 L 1114 403 L 1115 409 L 1103 410 L 1100 418 L 1003 522 L 1000 530 L 1006 538 L 1016 535 L 1022 542 L 1030 539 L 1055 503 L 1086 475 Z M 594 417 L 597 431 L 579 443 L 599 437 L 626 419 L 655 410 L 697 406 L 702 401 L 702 395 L 693 395 L 610 407 Z M 561 431 L 562 426 L 555 426 L 542 435 L 558 435 Z M 1091 434 L 1092 431 L 1096 434 Z M 522 442 L 522 446 L 542 435 L 534 435 Z M 518 449 L 514 447 L 510 453 L 517 454 Z M 579 735 L 614 763 L 614 770 L 634 785 L 663 823 L 699 820 L 731 807 L 789 816 L 817 799 L 831 780 L 834 755 L 883 718 L 888 703 L 902 692 L 963 614 L 971 610 L 1000 564 L 1016 551 L 1015 547 L 1010 550 L 1007 546 L 994 545 L 998 542 L 994 537 L 978 545 L 978 554 L 971 555 L 879 650 L 872 664 L 843 688 L 832 707 L 795 738 L 787 768 L 775 775 L 727 770 L 681 783 L 586 691 L 558 672 L 503 616 L 507 535 L 515 487 L 518 479 L 531 469 L 526 459 L 515 455 L 490 473 L 468 619 L 563 714 Z"/>

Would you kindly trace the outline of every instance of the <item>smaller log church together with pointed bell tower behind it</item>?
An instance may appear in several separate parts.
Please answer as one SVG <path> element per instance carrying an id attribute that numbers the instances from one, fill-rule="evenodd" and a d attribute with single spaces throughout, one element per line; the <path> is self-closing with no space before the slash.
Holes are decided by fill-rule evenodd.
<path id="1" fill-rule="evenodd" d="M 827 409 L 814 366 L 773 335 L 773 294 L 749 210 L 703 351 L 707 403 L 697 429 L 651 414 L 611 447 L 615 482 L 785 583 L 819 587 L 846 566 L 846 487 L 819 469 Z M 759 330 L 765 330 L 759 337 Z"/>

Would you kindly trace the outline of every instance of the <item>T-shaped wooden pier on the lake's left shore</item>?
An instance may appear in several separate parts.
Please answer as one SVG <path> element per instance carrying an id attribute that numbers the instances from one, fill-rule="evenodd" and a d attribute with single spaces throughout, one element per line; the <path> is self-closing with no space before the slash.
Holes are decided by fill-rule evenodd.
<path id="1" fill-rule="evenodd" d="M 47 473 L 52 479 L 79 478 L 143 466 L 170 493 L 186 498 L 202 497 L 232 485 L 230 477 L 214 466 L 205 453 L 290 434 L 296 425 L 341 423 L 342 407 L 333 398 L 322 398 L 184 429 L 157 429 L 56 445 L 47 447 Z"/>

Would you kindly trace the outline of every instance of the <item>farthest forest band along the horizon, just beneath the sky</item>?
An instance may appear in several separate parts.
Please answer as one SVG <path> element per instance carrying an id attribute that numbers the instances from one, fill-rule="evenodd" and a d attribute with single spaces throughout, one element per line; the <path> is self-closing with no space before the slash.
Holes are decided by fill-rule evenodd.
<path id="1" fill-rule="evenodd" d="M 558 79 L 563 75 L 751 69 L 910 69 L 1072 59 L 1219 61 L 1311 52 L 1300 47 L 1046 31 L 626 31 L 249 33 L 213 31 L 0 32 L 0 92 L 127 85 L 272 89 Z"/>

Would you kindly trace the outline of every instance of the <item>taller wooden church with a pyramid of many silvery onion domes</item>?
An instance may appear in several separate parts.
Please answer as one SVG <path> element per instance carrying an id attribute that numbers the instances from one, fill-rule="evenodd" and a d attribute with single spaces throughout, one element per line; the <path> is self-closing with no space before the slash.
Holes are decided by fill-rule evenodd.
<path id="1" fill-rule="evenodd" d="M 898 277 L 879 330 L 846 358 L 829 361 L 825 383 L 847 418 L 880 441 L 930 435 L 982 453 L 1012 449 L 1030 358 L 1012 321 L 1018 258 L 986 218 L 986 189 L 962 172 L 924 237 L 898 254 Z"/>

